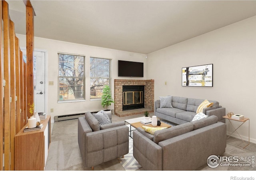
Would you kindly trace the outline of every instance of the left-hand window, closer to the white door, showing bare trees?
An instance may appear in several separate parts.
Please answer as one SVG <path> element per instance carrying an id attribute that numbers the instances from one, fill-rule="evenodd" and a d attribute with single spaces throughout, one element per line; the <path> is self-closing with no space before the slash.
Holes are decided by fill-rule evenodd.
<path id="1" fill-rule="evenodd" d="M 84 59 L 85 56 L 61 54 L 59 58 L 58 101 L 85 100 Z"/>

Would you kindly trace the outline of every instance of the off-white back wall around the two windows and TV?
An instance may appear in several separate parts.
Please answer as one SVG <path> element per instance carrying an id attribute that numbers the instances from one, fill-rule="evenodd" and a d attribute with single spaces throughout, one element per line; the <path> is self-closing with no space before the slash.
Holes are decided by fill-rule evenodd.
<path id="1" fill-rule="evenodd" d="M 26 36 L 16 34 L 20 40 L 20 47 L 26 47 Z M 146 58 L 145 54 L 138 54 L 132 52 L 124 52 L 119 50 L 112 50 L 107 48 L 99 48 L 94 46 L 86 46 L 82 44 L 74 44 L 69 42 L 62 42 L 57 40 L 50 40 L 46 38 L 34 38 L 34 49 L 47 51 L 47 74 L 48 81 L 53 81 L 53 86 L 48 86 L 47 94 L 47 114 L 51 115 L 52 122 L 54 116 L 84 113 L 86 111 L 98 111 L 103 109 L 100 100 L 90 101 L 90 56 L 99 58 L 109 58 L 111 60 L 111 88 L 112 97 L 114 98 L 114 79 L 146 79 Z M 85 75 L 86 75 L 86 101 L 84 102 L 65 102 L 58 103 L 58 52 L 81 54 L 85 55 Z M 135 62 L 144 62 L 144 78 L 124 78 L 118 77 L 118 60 L 127 60 Z M 54 112 L 51 113 L 50 109 L 53 108 Z M 110 109 L 114 109 L 112 104 Z"/>

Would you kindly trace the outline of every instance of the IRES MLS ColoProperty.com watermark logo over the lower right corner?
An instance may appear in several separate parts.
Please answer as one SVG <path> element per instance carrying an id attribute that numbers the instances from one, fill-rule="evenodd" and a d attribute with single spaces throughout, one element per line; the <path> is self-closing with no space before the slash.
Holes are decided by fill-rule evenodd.
<path id="1" fill-rule="evenodd" d="M 255 167 L 255 156 L 215 156 L 211 155 L 207 158 L 207 164 L 211 168 L 216 168 L 218 166 L 251 166 Z M 236 177 L 237 178 L 237 177 Z M 232 180 L 247 180 L 247 179 L 232 179 Z"/>

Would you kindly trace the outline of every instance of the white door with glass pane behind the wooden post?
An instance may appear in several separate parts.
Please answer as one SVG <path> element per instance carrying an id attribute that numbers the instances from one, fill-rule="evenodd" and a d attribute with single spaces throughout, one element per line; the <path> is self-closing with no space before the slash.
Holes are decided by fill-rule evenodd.
<path id="1" fill-rule="evenodd" d="M 22 50 L 26 56 L 26 50 Z M 46 112 L 45 52 L 34 51 L 34 103 L 36 112 Z"/>

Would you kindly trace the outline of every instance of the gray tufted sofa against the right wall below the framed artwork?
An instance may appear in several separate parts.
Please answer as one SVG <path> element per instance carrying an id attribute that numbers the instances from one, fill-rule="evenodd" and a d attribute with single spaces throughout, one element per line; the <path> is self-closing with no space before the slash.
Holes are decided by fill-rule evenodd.
<path id="1" fill-rule="evenodd" d="M 178 96 L 172 96 L 172 107 L 173 108 L 160 108 L 160 100 L 155 101 L 154 115 L 174 122 L 175 124 L 184 124 L 190 122 L 196 115 L 198 106 L 203 102 L 203 99 L 184 98 Z M 225 123 L 225 119 L 222 116 L 226 115 L 226 108 L 222 108 L 218 101 L 208 100 L 213 102 L 213 106 L 204 108 L 203 113 L 218 117 L 218 121 Z"/>

